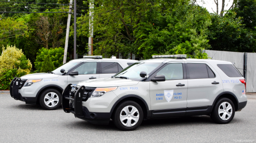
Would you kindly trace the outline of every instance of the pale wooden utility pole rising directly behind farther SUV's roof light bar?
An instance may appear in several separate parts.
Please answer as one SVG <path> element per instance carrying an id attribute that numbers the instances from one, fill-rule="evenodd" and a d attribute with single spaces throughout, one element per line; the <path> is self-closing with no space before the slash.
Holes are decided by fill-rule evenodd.
<path id="1" fill-rule="evenodd" d="M 93 55 L 93 9 L 94 9 L 94 0 L 92 0 L 92 3 L 90 3 L 90 9 L 89 9 L 89 55 Z"/>

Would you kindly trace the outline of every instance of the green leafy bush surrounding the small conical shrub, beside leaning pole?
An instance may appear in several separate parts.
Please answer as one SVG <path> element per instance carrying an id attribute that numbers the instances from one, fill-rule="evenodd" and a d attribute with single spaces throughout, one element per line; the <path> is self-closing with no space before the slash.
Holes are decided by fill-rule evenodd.
<path id="1" fill-rule="evenodd" d="M 63 64 L 63 55 L 64 55 L 64 48 L 41 48 L 37 52 L 36 60 L 35 60 L 35 68 L 37 71 L 41 70 L 42 62 L 44 62 L 44 59 L 47 55 L 50 55 L 52 63 L 55 68 L 60 67 Z M 67 61 L 69 58 L 67 58 Z"/>

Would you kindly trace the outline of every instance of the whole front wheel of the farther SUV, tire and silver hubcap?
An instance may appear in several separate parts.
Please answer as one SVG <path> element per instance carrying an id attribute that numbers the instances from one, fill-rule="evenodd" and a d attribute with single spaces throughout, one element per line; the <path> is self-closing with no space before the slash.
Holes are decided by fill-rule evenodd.
<path id="1" fill-rule="evenodd" d="M 44 109 L 55 110 L 61 105 L 61 94 L 55 89 L 48 89 L 41 93 L 39 103 Z"/>

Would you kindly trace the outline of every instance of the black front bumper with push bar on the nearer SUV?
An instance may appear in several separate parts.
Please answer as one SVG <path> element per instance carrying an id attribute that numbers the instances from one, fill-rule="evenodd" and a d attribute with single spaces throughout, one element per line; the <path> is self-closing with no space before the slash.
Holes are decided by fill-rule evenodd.
<path id="1" fill-rule="evenodd" d="M 72 97 L 70 96 L 70 91 L 72 89 L 71 85 L 72 84 L 68 84 L 65 90 L 62 92 L 63 110 L 67 113 L 71 112 L 76 118 L 86 120 L 89 123 L 108 125 L 111 118 L 111 112 L 90 112 L 87 107 L 82 106 L 82 100 L 84 100 L 83 95 L 86 91 L 86 87 L 79 87 Z"/>

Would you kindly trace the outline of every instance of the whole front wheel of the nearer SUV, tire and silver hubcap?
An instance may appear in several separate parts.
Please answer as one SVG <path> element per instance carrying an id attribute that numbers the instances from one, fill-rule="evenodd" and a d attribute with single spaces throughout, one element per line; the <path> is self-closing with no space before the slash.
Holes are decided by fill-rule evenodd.
<path id="1" fill-rule="evenodd" d="M 140 105 L 134 101 L 124 101 L 114 112 L 114 124 L 123 131 L 137 129 L 143 120 L 143 111 Z"/>

